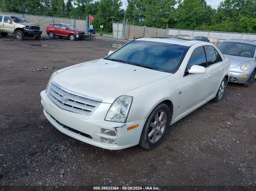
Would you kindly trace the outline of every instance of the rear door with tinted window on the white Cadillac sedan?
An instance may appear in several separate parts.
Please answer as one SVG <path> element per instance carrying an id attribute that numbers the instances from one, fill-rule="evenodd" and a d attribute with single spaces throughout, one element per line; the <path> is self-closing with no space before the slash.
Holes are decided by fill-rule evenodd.
<path id="1" fill-rule="evenodd" d="M 210 78 L 209 78 L 209 96 L 207 100 L 211 100 L 217 94 L 218 88 L 221 84 L 221 81 L 224 76 L 224 62 L 221 59 L 221 56 L 211 45 L 204 46 L 206 59 L 207 59 L 207 68 Z M 216 54 L 217 53 L 217 54 Z"/>

